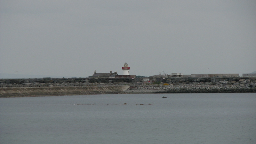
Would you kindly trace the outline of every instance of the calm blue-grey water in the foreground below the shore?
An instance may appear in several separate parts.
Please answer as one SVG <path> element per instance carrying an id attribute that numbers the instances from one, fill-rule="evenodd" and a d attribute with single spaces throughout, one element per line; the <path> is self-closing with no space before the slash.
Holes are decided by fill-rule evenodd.
<path id="1" fill-rule="evenodd" d="M 0 143 L 255 144 L 256 94 L 1 98 Z"/>

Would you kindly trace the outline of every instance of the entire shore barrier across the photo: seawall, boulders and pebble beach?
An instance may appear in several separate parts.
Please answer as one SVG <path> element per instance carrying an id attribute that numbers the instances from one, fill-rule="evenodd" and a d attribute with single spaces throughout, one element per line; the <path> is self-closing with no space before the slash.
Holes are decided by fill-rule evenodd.
<path id="1" fill-rule="evenodd" d="M 105 82 L 105 83 L 102 83 Z M 126 82 L 125 82 L 126 81 Z M 130 83 L 129 83 L 130 82 Z M 126 79 L 0 79 L 0 97 L 114 93 L 256 92 L 255 77 L 166 78 L 158 84 Z"/>

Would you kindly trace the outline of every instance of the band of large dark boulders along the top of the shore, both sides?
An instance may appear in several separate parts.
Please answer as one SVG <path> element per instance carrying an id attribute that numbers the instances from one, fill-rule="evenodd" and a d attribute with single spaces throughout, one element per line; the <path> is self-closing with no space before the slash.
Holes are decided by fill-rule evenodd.
<path id="1" fill-rule="evenodd" d="M 141 78 L 29 78 L 29 79 L 0 79 L 0 87 L 44 87 L 44 86 L 92 86 L 98 84 L 132 84 L 143 83 Z M 168 77 L 153 78 L 152 83 L 167 84 L 208 84 L 208 85 L 239 85 L 255 86 L 256 77 Z M 253 85 L 254 84 L 254 85 Z"/>

